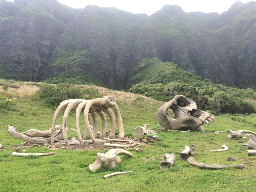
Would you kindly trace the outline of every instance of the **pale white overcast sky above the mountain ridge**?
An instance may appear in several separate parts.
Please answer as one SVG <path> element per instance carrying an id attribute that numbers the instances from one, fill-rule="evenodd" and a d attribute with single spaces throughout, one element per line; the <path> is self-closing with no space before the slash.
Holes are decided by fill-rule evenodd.
<path id="1" fill-rule="evenodd" d="M 58 0 L 60 3 L 73 8 L 84 8 L 86 5 L 100 7 L 116 7 L 132 13 L 146 13 L 151 15 L 160 10 L 163 5 L 180 5 L 185 12 L 201 11 L 205 13 L 227 11 L 236 0 Z M 248 0 L 240 0 L 243 3 Z"/>

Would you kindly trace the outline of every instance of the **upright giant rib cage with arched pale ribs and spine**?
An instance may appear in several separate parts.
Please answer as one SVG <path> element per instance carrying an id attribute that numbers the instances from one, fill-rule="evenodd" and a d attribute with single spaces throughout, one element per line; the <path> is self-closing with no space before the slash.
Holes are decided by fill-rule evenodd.
<path id="1" fill-rule="evenodd" d="M 67 107 L 66 107 L 67 106 Z M 65 141 L 65 144 L 68 145 L 68 139 L 67 139 L 67 131 L 64 129 L 64 127 L 67 127 L 67 119 L 68 119 L 68 114 L 71 111 L 72 108 L 76 107 L 76 130 L 77 130 L 77 135 L 79 142 L 82 143 L 83 140 L 86 138 L 87 133 L 89 132 L 89 135 L 91 137 L 92 143 L 95 143 L 95 137 L 97 136 L 98 132 L 98 119 L 96 113 L 99 114 L 102 122 L 101 126 L 101 132 L 100 132 L 100 137 L 103 137 L 106 135 L 107 131 L 107 122 L 106 122 L 106 117 L 104 112 L 109 116 L 110 119 L 110 136 L 115 135 L 115 130 L 116 130 L 116 121 L 115 121 L 115 115 L 117 119 L 117 124 L 118 124 L 118 130 L 119 130 L 119 135 L 118 138 L 123 138 L 124 137 L 124 128 L 123 128 L 123 122 L 122 122 L 122 117 L 119 111 L 119 108 L 116 104 L 116 100 L 113 97 L 108 97 L 108 96 L 103 96 L 103 98 L 98 98 L 98 99 L 92 99 L 92 100 L 83 100 L 83 99 L 69 99 L 65 100 L 60 103 L 58 108 L 56 109 L 54 116 L 53 116 L 53 121 L 52 121 L 52 132 L 51 132 L 51 145 L 54 145 L 54 131 L 55 131 L 55 125 L 57 118 L 62 111 L 64 107 L 66 107 L 66 110 L 64 112 L 63 116 L 63 121 L 62 121 L 62 127 L 63 127 L 63 138 Z M 79 117 L 82 109 L 84 108 L 84 131 L 83 135 L 80 133 L 80 127 L 79 127 Z M 115 112 L 112 112 L 110 109 L 112 108 Z M 90 128 L 90 114 L 92 115 L 93 119 L 93 129 L 91 130 Z"/>

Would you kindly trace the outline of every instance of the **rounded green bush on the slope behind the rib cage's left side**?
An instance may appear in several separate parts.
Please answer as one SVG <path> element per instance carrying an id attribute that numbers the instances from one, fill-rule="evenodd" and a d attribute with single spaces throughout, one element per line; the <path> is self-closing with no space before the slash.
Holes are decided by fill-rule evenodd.
<path id="1" fill-rule="evenodd" d="M 40 86 L 39 98 L 47 104 L 58 106 L 62 101 L 68 99 L 82 98 L 84 92 L 73 84 L 44 84 Z"/>

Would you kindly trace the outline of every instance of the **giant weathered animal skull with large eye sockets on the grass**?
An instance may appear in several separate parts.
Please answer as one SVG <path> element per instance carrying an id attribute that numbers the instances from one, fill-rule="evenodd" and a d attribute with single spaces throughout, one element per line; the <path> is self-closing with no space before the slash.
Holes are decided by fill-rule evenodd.
<path id="1" fill-rule="evenodd" d="M 168 109 L 172 109 L 175 117 L 168 115 Z M 169 102 L 162 105 L 157 113 L 156 118 L 163 130 L 178 130 L 184 128 L 187 130 L 204 131 L 203 124 L 208 124 L 214 120 L 214 116 L 208 112 L 200 111 L 194 101 L 183 95 L 177 95 Z"/>

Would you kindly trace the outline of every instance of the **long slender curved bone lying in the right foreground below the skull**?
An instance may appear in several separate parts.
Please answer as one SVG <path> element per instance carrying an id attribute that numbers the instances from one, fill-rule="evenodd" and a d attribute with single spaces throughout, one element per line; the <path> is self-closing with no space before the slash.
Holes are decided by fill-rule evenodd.
<path id="1" fill-rule="evenodd" d="M 187 159 L 187 162 L 193 166 L 204 168 L 204 169 L 222 169 L 222 168 L 230 168 L 230 167 L 234 167 L 237 169 L 245 168 L 245 165 L 243 165 L 243 164 L 218 165 L 218 164 L 199 163 L 199 162 L 196 162 L 193 157 L 189 157 Z"/>

